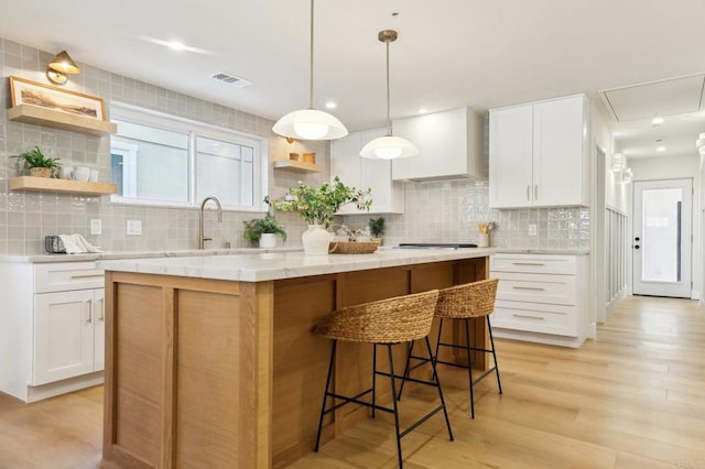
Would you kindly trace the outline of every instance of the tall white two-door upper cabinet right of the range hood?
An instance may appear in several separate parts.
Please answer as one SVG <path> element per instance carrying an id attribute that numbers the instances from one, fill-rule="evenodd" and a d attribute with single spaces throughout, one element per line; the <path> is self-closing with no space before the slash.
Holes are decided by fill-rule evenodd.
<path id="1" fill-rule="evenodd" d="M 589 205 L 589 106 L 583 95 L 489 113 L 489 206 Z"/>

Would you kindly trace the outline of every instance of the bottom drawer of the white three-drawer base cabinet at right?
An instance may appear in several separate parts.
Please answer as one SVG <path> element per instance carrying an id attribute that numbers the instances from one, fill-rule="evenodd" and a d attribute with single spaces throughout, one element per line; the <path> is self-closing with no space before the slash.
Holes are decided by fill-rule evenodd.
<path id="1" fill-rule="evenodd" d="M 505 329 L 573 337 L 578 335 L 575 306 L 497 301 L 490 323 L 492 327 Z"/>

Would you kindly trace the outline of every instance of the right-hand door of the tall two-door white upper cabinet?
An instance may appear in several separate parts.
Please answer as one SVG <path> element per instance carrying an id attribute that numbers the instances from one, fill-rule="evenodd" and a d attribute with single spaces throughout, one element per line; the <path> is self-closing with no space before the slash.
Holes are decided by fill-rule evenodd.
<path id="1" fill-rule="evenodd" d="M 588 205 L 583 167 L 586 106 L 581 96 L 533 107 L 533 197 L 536 206 Z"/>

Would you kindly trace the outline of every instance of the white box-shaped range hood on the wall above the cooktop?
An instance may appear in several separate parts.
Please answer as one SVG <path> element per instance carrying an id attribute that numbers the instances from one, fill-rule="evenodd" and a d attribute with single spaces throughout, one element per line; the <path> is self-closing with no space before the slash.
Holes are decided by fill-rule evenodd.
<path id="1" fill-rule="evenodd" d="M 468 108 L 398 119 L 393 133 L 419 154 L 392 161 L 392 179 L 485 177 L 485 119 Z"/>

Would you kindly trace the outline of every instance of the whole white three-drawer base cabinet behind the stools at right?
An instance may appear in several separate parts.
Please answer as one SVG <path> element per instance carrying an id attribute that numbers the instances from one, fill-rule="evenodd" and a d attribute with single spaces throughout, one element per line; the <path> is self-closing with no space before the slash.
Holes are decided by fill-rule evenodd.
<path id="1" fill-rule="evenodd" d="M 496 337 L 566 347 L 594 337 L 587 255 L 495 254 L 490 276 L 499 279 Z"/>

